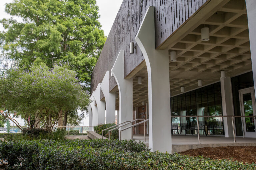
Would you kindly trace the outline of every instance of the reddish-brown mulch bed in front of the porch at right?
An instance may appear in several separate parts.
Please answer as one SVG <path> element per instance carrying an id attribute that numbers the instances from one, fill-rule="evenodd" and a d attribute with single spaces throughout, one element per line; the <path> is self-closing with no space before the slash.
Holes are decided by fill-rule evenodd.
<path id="1" fill-rule="evenodd" d="M 211 159 L 231 159 L 244 163 L 256 163 L 256 146 L 204 147 L 180 152 L 182 155 L 203 156 Z"/>

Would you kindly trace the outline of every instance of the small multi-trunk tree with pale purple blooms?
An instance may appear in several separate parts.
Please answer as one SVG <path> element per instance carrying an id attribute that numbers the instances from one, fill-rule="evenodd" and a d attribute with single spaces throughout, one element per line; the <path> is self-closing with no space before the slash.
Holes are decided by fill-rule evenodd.
<path id="1" fill-rule="evenodd" d="M 30 129 L 42 125 L 52 130 L 57 124 L 63 126 L 63 117 L 67 122 L 66 114 L 79 121 L 84 115 L 78 115 L 77 110 L 84 112 L 89 104 L 88 94 L 75 71 L 62 63 L 53 68 L 33 65 L 25 71 L 21 68 L 3 70 L 0 88 L 1 115 L 22 130 L 15 117 L 21 116 Z"/>

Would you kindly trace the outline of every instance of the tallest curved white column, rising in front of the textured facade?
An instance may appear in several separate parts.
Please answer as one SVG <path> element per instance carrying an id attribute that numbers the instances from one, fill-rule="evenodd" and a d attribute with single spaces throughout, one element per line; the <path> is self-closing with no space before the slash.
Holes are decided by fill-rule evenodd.
<path id="1" fill-rule="evenodd" d="M 135 41 L 148 70 L 149 147 L 172 153 L 168 49 L 155 49 L 154 7 L 149 7 Z"/>

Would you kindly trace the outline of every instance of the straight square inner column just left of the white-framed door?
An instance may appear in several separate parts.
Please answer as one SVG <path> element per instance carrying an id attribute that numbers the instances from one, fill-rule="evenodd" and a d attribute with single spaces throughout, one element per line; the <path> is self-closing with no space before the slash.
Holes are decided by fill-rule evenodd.
<path id="1" fill-rule="evenodd" d="M 221 98 L 222 98 L 222 112 L 223 116 L 233 116 L 233 97 L 231 78 L 220 78 Z M 225 137 L 233 137 L 233 127 L 231 118 L 223 118 Z"/>

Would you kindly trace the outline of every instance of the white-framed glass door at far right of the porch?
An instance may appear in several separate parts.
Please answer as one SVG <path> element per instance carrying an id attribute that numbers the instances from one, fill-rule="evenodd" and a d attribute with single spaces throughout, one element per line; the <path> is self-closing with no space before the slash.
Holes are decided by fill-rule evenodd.
<path id="1" fill-rule="evenodd" d="M 242 116 L 255 116 L 256 103 L 254 87 L 239 90 Z M 242 118 L 244 137 L 256 137 L 255 118 Z"/>

